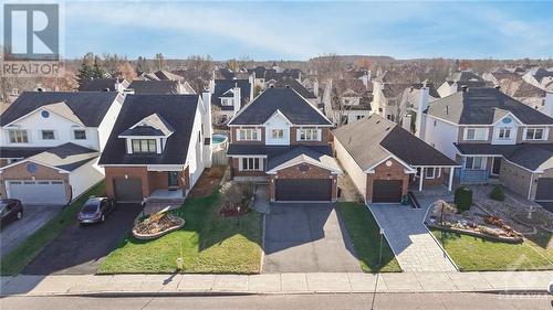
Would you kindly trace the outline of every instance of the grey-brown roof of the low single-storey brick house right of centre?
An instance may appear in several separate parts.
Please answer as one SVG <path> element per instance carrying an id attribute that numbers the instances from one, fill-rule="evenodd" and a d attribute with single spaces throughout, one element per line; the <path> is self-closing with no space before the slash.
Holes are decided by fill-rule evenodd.
<path id="1" fill-rule="evenodd" d="M 334 137 L 363 170 L 394 156 L 410 165 L 458 165 L 397 124 L 376 114 L 342 126 Z"/>

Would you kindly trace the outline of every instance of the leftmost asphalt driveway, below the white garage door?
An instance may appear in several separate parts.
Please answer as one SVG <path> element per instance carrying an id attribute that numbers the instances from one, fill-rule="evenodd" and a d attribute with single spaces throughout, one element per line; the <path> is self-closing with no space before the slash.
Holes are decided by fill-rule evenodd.
<path id="1" fill-rule="evenodd" d="M 23 218 L 13 221 L 0 231 L 0 256 L 8 255 L 19 244 L 52 220 L 63 206 L 24 205 Z"/>

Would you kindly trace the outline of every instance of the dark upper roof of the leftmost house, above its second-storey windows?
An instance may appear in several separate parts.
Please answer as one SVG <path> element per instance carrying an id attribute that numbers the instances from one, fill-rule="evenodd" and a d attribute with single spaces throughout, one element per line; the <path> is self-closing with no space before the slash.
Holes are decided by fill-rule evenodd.
<path id="1" fill-rule="evenodd" d="M 64 106 L 86 127 L 98 127 L 105 114 L 117 99 L 116 92 L 24 92 L 0 117 L 0 125 L 6 126 L 41 107 Z M 63 108 L 65 109 L 65 108 Z"/>

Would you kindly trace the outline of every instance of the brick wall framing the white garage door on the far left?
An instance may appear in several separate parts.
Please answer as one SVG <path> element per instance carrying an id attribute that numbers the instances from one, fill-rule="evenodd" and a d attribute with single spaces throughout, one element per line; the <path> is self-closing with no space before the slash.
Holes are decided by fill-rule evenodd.
<path id="1" fill-rule="evenodd" d="M 21 162 L 2 171 L 0 174 L 0 195 L 7 196 L 6 181 L 19 180 L 50 180 L 50 181 L 64 181 L 65 197 L 67 201 L 71 199 L 71 186 L 67 173 L 60 173 L 59 170 L 35 163 L 36 171 L 31 173 L 27 170 L 29 162 Z"/>

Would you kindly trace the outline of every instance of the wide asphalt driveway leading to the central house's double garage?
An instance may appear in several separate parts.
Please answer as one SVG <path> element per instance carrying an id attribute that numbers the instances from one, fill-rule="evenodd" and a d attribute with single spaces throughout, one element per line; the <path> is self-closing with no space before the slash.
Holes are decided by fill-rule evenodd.
<path id="1" fill-rule="evenodd" d="M 361 272 L 344 223 L 330 204 L 272 204 L 263 272 Z"/>

